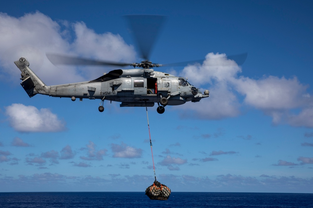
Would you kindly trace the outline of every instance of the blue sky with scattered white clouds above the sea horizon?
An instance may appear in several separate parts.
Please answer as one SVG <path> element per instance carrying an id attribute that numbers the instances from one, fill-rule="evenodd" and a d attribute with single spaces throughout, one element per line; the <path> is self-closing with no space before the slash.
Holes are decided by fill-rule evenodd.
<path id="1" fill-rule="evenodd" d="M 56 67 L 45 52 L 138 62 L 123 15 L 166 15 L 151 52 L 211 97 L 148 108 L 157 179 L 172 191 L 313 193 L 310 1 L 0 3 L 0 191 L 145 191 L 154 181 L 145 108 L 36 95 L 112 68 Z M 248 53 L 242 66 L 227 56 Z M 229 64 L 229 63 L 232 64 Z M 226 63 L 226 65 L 225 65 Z M 213 66 L 212 66 L 213 65 Z M 159 70 L 159 69 L 158 69 Z"/>

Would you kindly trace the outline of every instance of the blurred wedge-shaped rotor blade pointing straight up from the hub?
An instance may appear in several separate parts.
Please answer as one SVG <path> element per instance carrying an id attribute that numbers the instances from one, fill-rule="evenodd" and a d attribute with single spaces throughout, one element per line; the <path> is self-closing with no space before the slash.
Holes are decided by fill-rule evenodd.
<path id="1" fill-rule="evenodd" d="M 148 60 L 151 49 L 165 21 L 161 15 L 126 15 L 143 59 Z"/>

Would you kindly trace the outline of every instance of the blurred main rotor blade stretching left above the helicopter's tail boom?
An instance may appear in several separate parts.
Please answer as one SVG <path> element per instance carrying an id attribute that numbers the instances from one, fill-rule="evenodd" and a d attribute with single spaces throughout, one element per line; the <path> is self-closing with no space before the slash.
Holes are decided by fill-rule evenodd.
<path id="1" fill-rule="evenodd" d="M 52 53 L 46 53 L 46 56 L 54 65 L 114 65 L 114 66 L 132 65 L 132 63 L 100 61 Z"/>

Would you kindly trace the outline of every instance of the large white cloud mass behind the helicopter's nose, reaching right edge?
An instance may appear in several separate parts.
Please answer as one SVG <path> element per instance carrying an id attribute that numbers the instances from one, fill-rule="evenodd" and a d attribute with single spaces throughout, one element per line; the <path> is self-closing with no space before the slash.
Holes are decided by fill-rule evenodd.
<path id="1" fill-rule="evenodd" d="M 252 79 L 239 76 L 240 73 L 241 67 L 225 54 L 209 53 L 202 64 L 186 66 L 181 76 L 188 77 L 191 83 L 201 85 L 201 88 L 209 88 L 211 97 L 193 104 L 192 108 L 191 104 L 181 106 L 189 111 L 182 116 L 223 119 L 240 115 L 240 108 L 246 105 L 271 116 L 274 124 L 313 127 L 313 100 L 306 91 L 308 85 L 301 84 L 297 77 Z M 300 113 L 292 114 L 294 109 Z"/>

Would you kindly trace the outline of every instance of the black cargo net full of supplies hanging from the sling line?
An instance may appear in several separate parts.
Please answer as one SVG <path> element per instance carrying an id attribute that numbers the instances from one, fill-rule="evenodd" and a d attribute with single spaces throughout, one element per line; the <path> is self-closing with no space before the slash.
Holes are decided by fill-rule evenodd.
<path id="1" fill-rule="evenodd" d="M 153 200 L 167 200 L 170 194 L 171 189 L 157 180 L 146 189 L 146 195 Z"/>

